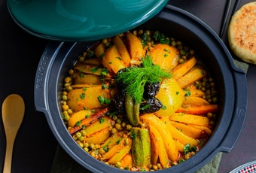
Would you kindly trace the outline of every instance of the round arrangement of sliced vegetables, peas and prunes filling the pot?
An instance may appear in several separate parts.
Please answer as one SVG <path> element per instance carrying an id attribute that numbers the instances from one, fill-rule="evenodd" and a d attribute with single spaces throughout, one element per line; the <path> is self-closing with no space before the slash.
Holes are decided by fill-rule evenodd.
<path id="1" fill-rule="evenodd" d="M 215 82 L 194 50 L 160 32 L 105 38 L 78 57 L 62 92 L 62 118 L 91 156 L 130 171 L 194 156 L 215 126 Z"/>

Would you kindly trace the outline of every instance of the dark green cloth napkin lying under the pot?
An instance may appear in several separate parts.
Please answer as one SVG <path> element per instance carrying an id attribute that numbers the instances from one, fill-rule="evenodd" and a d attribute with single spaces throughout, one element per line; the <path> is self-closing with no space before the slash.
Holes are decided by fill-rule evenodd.
<path id="1" fill-rule="evenodd" d="M 236 67 L 242 68 L 243 71 L 245 71 L 245 74 L 248 70 L 248 64 L 245 62 L 240 62 L 236 59 L 233 59 L 233 62 L 235 63 Z M 218 173 L 218 167 L 221 162 L 221 156 L 222 153 L 218 153 L 210 162 L 208 162 L 206 165 L 203 166 L 203 168 L 200 168 L 200 170 L 196 171 L 195 173 L 205 173 L 205 172 L 211 172 L 211 173 Z M 69 156 L 68 153 L 66 153 L 65 150 L 62 149 L 58 145 L 56 149 L 56 154 L 53 159 L 53 165 L 51 168 L 50 173 L 90 173 L 91 171 L 88 171 L 86 168 L 78 164 L 74 159 L 72 159 L 71 156 Z"/>

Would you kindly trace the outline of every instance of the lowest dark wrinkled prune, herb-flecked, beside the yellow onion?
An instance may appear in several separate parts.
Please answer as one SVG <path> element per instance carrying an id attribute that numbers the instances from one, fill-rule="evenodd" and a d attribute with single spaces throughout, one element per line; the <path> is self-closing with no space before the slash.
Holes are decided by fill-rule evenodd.
<path id="1" fill-rule="evenodd" d="M 142 102 L 140 105 L 140 113 L 149 114 L 156 112 L 162 108 L 163 104 L 157 98 L 148 99 L 146 102 Z"/>

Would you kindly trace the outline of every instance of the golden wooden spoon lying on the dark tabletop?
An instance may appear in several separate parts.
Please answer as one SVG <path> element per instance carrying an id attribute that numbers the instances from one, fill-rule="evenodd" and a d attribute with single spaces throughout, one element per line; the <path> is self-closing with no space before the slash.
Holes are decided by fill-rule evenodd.
<path id="1" fill-rule="evenodd" d="M 6 135 L 6 153 L 4 173 L 11 172 L 11 159 L 14 141 L 25 113 L 25 104 L 21 96 L 11 94 L 2 104 L 2 120 Z"/>

